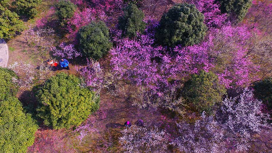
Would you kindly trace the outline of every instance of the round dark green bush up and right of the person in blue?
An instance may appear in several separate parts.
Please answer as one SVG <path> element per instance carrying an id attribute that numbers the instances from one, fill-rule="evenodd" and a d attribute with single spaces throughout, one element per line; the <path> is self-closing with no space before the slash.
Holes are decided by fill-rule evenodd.
<path id="1" fill-rule="evenodd" d="M 79 49 L 94 60 L 98 60 L 108 53 L 112 43 L 109 41 L 108 27 L 102 21 L 94 22 L 82 27 L 78 31 Z"/>

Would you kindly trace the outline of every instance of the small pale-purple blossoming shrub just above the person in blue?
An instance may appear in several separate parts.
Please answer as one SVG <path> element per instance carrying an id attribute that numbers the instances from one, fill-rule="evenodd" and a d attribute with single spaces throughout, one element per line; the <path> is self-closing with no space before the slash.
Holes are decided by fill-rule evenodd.
<path id="1" fill-rule="evenodd" d="M 82 54 L 75 48 L 74 44 L 60 43 L 58 47 L 51 47 L 51 52 L 54 56 L 61 58 L 73 59 L 82 56 Z"/>

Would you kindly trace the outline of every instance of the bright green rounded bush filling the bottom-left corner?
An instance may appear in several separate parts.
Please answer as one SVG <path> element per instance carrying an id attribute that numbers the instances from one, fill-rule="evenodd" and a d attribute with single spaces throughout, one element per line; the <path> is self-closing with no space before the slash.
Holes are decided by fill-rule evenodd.
<path id="1" fill-rule="evenodd" d="M 0 152 L 26 152 L 38 125 L 16 97 L 0 100 Z"/>

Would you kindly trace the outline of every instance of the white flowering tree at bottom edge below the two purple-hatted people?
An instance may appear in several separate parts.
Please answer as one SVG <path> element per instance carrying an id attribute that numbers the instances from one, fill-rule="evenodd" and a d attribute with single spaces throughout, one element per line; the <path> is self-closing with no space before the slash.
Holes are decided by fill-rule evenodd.
<path id="1" fill-rule="evenodd" d="M 126 150 L 126 153 L 156 153 L 167 150 L 169 135 L 165 130 L 160 131 L 157 127 L 148 129 L 132 125 L 131 128 L 124 129 L 121 133 L 119 143 Z"/>

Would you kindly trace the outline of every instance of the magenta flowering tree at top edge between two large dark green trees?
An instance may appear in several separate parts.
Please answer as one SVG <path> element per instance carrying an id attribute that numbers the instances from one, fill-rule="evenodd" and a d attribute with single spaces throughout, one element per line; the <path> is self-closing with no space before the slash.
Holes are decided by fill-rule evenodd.
<path id="1" fill-rule="evenodd" d="M 204 23 L 209 29 L 221 28 L 226 20 L 227 14 L 221 13 L 220 4 L 215 0 L 191 0 L 196 8 L 205 16 Z"/>

